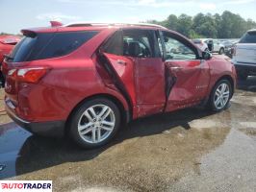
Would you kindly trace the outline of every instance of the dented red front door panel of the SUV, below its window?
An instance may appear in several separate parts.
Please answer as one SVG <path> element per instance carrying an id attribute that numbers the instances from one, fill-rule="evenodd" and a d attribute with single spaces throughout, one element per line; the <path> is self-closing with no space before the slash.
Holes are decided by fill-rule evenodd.
<path id="1" fill-rule="evenodd" d="M 166 111 L 191 107 L 205 98 L 210 81 L 209 65 L 205 60 L 169 60 L 166 69 L 174 81 Z"/>

